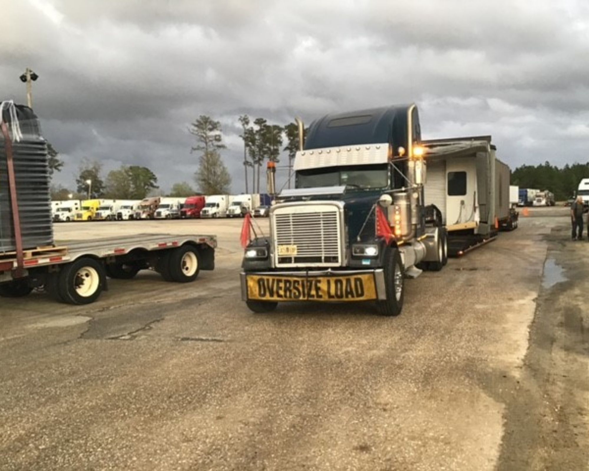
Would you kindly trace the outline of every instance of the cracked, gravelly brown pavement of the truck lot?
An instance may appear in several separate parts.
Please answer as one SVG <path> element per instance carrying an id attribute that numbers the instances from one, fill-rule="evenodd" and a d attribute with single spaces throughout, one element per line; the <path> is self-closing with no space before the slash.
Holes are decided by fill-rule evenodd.
<path id="1" fill-rule="evenodd" d="M 217 268 L 112 280 L 88 307 L 2 298 L 0 469 L 587 469 L 589 243 L 567 214 L 408 280 L 397 318 L 250 313 L 240 221 L 57 225 L 216 233 Z"/>

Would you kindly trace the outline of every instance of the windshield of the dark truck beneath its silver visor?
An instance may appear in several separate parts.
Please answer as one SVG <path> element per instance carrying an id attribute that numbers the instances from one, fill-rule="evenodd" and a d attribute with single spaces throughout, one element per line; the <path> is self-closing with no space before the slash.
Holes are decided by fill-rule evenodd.
<path id="1" fill-rule="evenodd" d="M 385 188 L 389 184 L 386 164 L 365 167 L 329 167 L 300 170 L 296 174 L 297 188 L 337 187 Z"/>

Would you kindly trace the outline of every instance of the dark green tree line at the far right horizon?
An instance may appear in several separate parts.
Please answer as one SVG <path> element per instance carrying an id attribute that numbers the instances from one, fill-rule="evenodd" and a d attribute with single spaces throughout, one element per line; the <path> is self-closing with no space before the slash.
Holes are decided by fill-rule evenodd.
<path id="1" fill-rule="evenodd" d="M 564 201 L 577 190 L 582 178 L 589 178 L 589 162 L 565 165 L 558 168 L 550 162 L 540 165 L 522 165 L 511 176 L 511 184 L 519 188 L 537 188 L 554 193 L 554 198 Z"/>

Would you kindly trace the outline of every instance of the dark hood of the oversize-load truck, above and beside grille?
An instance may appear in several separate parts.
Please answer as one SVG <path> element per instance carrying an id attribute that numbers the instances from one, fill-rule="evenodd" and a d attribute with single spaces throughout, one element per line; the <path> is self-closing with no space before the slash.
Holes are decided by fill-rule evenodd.
<path id="1" fill-rule="evenodd" d="M 343 203 L 349 244 L 356 243 L 358 237 L 360 237 L 360 241 L 373 239 L 375 235 L 375 215 L 371 211 L 384 190 L 358 190 L 356 188 L 346 189 L 346 187 L 303 188 L 302 190 L 295 190 L 297 194 L 294 194 L 292 190 L 289 193 L 282 193 L 278 197 L 277 205 L 280 205 L 280 203 L 297 203 L 299 201 L 300 203 L 306 201 L 340 201 Z M 366 221 L 369 214 L 370 217 Z M 362 229 L 364 225 L 365 227 Z"/>

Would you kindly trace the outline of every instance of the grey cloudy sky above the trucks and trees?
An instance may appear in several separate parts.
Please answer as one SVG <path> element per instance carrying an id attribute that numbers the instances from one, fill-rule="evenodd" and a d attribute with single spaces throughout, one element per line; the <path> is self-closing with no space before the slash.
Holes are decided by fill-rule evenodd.
<path id="1" fill-rule="evenodd" d="M 105 173 L 150 167 L 190 181 L 187 126 L 221 121 L 244 190 L 237 117 L 286 124 L 415 101 L 424 138 L 491 134 L 512 168 L 589 160 L 586 0 L 8 0 L 2 99 L 34 108 L 72 187 L 84 157 Z M 286 160 L 286 156 L 284 157 Z"/>

